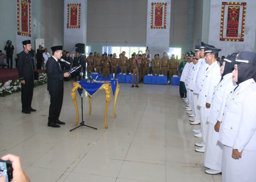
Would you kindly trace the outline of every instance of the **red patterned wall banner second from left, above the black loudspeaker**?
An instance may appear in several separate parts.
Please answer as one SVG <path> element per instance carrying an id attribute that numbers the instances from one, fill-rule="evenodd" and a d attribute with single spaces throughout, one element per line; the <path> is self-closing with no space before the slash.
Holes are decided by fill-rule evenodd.
<path id="1" fill-rule="evenodd" d="M 68 4 L 67 28 L 80 28 L 81 4 Z"/>

